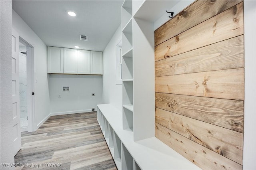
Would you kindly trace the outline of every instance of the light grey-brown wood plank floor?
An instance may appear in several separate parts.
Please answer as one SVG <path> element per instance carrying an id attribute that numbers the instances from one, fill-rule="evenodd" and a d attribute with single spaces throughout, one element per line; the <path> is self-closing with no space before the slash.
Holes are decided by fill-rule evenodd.
<path id="1" fill-rule="evenodd" d="M 22 132 L 22 148 L 15 169 L 116 170 L 96 112 L 50 117 L 36 132 Z M 62 164 L 50 168 L 48 163 Z"/>

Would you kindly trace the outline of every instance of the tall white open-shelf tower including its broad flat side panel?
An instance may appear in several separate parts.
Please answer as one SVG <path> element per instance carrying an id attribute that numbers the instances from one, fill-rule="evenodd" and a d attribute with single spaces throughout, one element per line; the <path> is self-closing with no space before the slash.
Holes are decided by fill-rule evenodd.
<path id="1" fill-rule="evenodd" d="M 122 121 L 134 141 L 154 136 L 154 23 L 134 17 L 143 2 L 122 5 Z"/>

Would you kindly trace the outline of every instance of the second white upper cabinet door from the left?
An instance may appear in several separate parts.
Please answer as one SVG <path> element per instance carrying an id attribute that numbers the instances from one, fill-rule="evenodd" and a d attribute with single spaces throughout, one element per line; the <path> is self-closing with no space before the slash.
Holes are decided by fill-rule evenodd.
<path id="1" fill-rule="evenodd" d="M 63 73 L 77 74 L 77 49 L 63 49 Z"/>

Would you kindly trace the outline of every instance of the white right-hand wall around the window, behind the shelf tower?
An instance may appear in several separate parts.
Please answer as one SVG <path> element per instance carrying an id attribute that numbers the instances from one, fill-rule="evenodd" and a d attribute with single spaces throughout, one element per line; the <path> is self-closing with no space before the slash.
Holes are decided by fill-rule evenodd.
<path id="1" fill-rule="evenodd" d="M 116 45 L 122 38 L 121 25 L 103 52 L 103 103 L 122 111 L 122 85 L 116 85 Z"/>

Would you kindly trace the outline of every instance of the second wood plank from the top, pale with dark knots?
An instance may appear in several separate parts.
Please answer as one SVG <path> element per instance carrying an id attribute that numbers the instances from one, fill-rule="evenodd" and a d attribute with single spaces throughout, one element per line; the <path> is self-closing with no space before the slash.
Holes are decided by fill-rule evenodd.
<path id="1" fill-rule="evenodd" d="M 244 34 L 243 2 L 155 47 L 155 61 Z"/>

